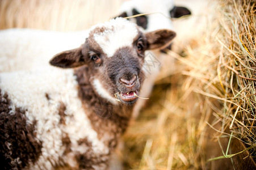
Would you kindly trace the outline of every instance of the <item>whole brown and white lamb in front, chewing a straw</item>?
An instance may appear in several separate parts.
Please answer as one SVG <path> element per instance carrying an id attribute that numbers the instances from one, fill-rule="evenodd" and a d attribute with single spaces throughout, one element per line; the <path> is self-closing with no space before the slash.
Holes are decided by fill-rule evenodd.
<path id="1" fill-rule="evenodd" d="M 56 67 L 1 73 L 1 167 L 107 169 L 140 95 L 145 50 L 174 37 L 116 18 L 56 54 Z"/>

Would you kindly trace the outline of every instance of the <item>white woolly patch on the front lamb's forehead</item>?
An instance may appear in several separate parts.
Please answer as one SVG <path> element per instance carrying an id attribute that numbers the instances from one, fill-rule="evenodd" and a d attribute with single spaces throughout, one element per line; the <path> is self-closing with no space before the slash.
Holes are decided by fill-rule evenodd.
<path id="1" fill-rule="evenodd" d="M 100 27 L 106 29 L 104 32 L 96 32 L 94 39 L 108 57 L 112 57 L 121 47 L 132 46 L 133 40 L 139 33 L 136 24 L 123 18 L 111 19 L 110 22 L 95 25 L 94 28 Z"/>

